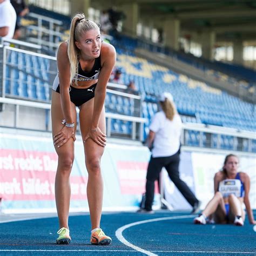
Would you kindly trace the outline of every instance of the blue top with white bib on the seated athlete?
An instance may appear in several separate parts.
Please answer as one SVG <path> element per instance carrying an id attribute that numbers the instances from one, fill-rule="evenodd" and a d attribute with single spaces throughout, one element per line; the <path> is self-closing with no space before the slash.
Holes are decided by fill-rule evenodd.
<path id="1" fill-rule="evenodd" d="M 231 194 L 234 194 L 236 197 L 244 197 L 245 196 L 245 188 L 244 183 L 242 183 L 240 179 L 239 172 L 234 179 L 224 179 L 219 183 L 218 191 L 223 194 L 223 197 L 228 197 Z"/>

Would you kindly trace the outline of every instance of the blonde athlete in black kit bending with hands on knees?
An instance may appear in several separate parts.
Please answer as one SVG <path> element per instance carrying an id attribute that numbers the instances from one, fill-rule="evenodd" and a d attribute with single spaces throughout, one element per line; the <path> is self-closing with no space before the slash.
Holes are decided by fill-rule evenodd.
<path id="1" fill-rule="evenodd" d="M 58 74 L 52 86 L 52 133 L 58 154 L 55 181 L 59 217 L 57 244 L 69 244 L 70 173 L 76 140 L 76 106 L 84 142 L 88 172 L 87 198 L 91 216 L 91 244 L 109 245 L 111 238 L 100 229 L 103 179 L 100 159 L 106 145 L 104 100 L 106 85 L 116 62 L 113 46 L 102 42 L 99 26 L 84 14 L 71 21 L 69 40 L 57 53 Z"/>

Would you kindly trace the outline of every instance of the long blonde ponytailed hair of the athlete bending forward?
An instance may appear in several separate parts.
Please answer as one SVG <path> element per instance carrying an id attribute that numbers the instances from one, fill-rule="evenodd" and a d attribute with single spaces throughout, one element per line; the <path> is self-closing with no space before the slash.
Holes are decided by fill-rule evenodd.
<path id="1" fill-rule="evenodd" d="M 80 35 L 85 31 L 92 29 L 99 29 L 99 25 L 95 22 L 85 19 L 84 14 L 78 13 L 73 16 L 70 26 L 70 35 L 68 42 L 68 56 L 70 62 L 70 84 L 73 78 L 77 78 L 78 62 L 80 58 L 80 51 L 77 48 L 75 42 L 78 41 Z M 77 85 L 77 80 L 76 80 Z"/>

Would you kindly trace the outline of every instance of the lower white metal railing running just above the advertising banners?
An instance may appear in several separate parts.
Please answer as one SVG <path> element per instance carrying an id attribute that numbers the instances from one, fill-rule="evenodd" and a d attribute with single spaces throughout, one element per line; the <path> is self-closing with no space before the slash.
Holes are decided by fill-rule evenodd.
<path id="1" fill-rule="evenodd" d="M 50 120 L 50 109 L 51 104 L 49 103 L 39 103 L 39 102 L 29 102 L 26 100 L 21 99 L 11 99 L 11 98 L 0 98 L 0 104 L 4 104 L 2 106 L 2 112 L 0 112 L 0 126 L 1 127 L 11 127 L 15 129 L 26 129 L 26 130 L 33 130 L 33 131 L 51 131 L 51 120 Z M 11 111 L 8 110 L 10 106 L 13 106 Z M 28 121 L 25 120 L 22 115 L 22 107 L 26 107 L 27 109 L 31 109 L 35 111 L 35 109 L 41 110 L 38 112 L 40 116 L 36 113 L 35 116 L 38 116 L 38 120 L 32 120 L 31 117 L 28 117 Z M 3 122 L 1 118 L 1 114 L 6 111 L 8 113 L 8 120 Z M 12 112 L 12 113 L 11 113 Z M 26 112 L 30 112 L 26 111 Z M 77 112 L 79 112 L 77 108 Z M 24 114 L 24 113 L 23 113 Z M 33 117 L 33 116 L 32 116 Z M 2 119 L 2 120 L 1 120 Z M 44 123 L 44 127 L 36 127 L 36 125 L 42 120 Z M 130 134 L 126 134 L 126 136 L 117 136 L 111 129 L 111 120 L 119 119 L 124 120 L 127 122 L 132 123 L 132 129 Z M 107 137 L 116 137 L 116 138 L 127 138 L 131 140 L 139 140 L 140 142 L 143 141 L 143 132 L 144 127 L 143 124 L 145 123 L 145 118 L 140 117 L 132 117 L 132 116 L 124 116 L 122 114 L 116 113 L 106 113 L 106 134 Z M 224 129 L 223 127 L 218 126 L 208 126 L 206 127 L 203 124 L 183 124 L 183 133 L 181 137 L 181 143 L 184 146 L 191 146 L 190 143 L 187 143 L 186 137 L 190 131 L 198 132 L 199 133 L 199 140 L 198 144 L 194 145 L 195 147 L 199 147 L 200 149 L 208 148 L 208 149 L 217 149 L 217 150 L 225 150 L 225 147 L 221 147 L 220 144 L 220 137 L 221 136 L 231 136 L 233 137 L 233 147 L 226 148 L 229 151 L 243 151 L 243 152 L 254 152 L 252 149 L 253 140 L 256 140 L 256 134 L 253 132 L 247 131 L 240 131 L 238 132 L 236 129 Z M 79 126 L 78 126 L 78 134 Z M 207 137 L 206 143 L 204 140 L 204 136 Z M 215 146 L 214 138 L 216 140 Z M 246 143 L 245 143 L 246 142 Z M 254 152 L 255 153 L 255 152 Z"/>

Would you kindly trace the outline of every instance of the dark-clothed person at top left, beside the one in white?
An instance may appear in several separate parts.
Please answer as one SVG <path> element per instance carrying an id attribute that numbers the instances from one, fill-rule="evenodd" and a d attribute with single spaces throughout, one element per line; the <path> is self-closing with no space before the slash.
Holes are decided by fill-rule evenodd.
<path id="1" fill-rule="evenodd" d="M 24 0 L 11 0 L 11 4 L 14 6 L 17 15 L 14 39 L 18 39 L 21 37 L 21 18 L 29 13 L 29 8 Z"/>

